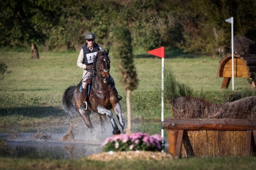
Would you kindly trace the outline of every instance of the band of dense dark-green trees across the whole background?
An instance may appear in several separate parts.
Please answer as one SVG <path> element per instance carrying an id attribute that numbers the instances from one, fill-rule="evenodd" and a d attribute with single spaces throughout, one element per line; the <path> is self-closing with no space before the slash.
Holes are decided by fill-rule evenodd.
<path id="1" fill-rule="evenodd" d="M 112 46 L 113 29 L 131 31 L 132 46 L 159 46 L 187 52 L 224 54 L 235 35 L 256 41 L 254 0 L 0 0 L 1 46 L 41 43 L 50 50 L 79 50 L 84 35 L 96 34 L 100 45 Z"/>

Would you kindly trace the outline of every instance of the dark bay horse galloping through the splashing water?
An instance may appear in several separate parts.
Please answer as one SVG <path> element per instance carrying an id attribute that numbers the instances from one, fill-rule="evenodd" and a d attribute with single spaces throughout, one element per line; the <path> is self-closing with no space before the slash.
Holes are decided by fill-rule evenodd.
<path id="1" fill-rule="evenodd" d="M 100 127 L 104 129 L 106 116 L 109 117 L 113 127 L 113 135 L 120 134 L 116 121 L 113 117 L 111 109 L 116 112 L 116 117 L 125 133 L 125 123 L 122 117 L 121 105 L 118 100 L 118 92 L 114 86 L 114 82 L 110 81 L 110 60 L 108 57 L 109 50 L 97 51 L 97 55 L 93 61 L 93 76 L 88 95 L 88 109 L 81 110 L 80 105 L 83 103 L 82 92 L 79 91 L 82 81 L 77 86 L 69 86 L 62 96 L 62 108 L 71 116 L 79 114 L 86 126 L 92 133 L 94 128 L 90 120 L 92 112 L 97 113 L 100 117 Z M 89 89 L 88 89 L 89 90 Z"/>

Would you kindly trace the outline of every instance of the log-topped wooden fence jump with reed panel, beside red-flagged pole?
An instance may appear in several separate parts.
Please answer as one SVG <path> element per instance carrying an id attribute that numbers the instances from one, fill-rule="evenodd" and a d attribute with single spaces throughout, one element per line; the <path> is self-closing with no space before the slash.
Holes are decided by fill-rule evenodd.
<path id="1" fill-rule="evenodd" d="M 250 156 L 256 151 L 254 119 L 166 119 L 169 153 L 180 158 Z"/>

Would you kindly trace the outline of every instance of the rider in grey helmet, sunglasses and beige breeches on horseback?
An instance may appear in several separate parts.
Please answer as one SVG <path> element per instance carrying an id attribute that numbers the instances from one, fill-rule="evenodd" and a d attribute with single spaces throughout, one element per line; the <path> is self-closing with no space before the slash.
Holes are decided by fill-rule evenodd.
<path id="1" fill-rule="evenodd" d="M 84 104 L 80 106 L 80 109 L 87 110 L 87 79 L 92 76 L 92 63 L 93 59 L 97 55 L 98 51 L 105 51 L 101 46 L 95 43 L 95 35 L 92 32 L 88 32 L 85 34 L 85 45 L 81 49 L 78 59 L 77 59 L 77 66 L 84 69 L 83 79 L 82 79 L 82 94 L 84 99 Z M 108 55 L 109 59 L 110 56 Z M 110 76 L 110 81 L 114 83 L 114 79 Z"/>

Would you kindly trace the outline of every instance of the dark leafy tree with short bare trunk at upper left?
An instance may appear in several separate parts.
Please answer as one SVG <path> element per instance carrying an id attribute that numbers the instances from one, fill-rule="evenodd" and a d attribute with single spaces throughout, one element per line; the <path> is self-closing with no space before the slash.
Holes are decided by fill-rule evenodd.
<path id="1" fill-rule="evenodd" d="M 44 44 L 57 25 L 63 3 L 54 0 L 0 0 L 0 46 L 31 46 L 39 58 L 37 44 Z"/>

